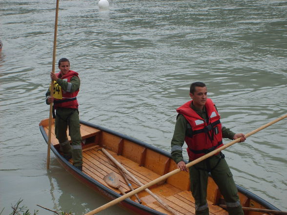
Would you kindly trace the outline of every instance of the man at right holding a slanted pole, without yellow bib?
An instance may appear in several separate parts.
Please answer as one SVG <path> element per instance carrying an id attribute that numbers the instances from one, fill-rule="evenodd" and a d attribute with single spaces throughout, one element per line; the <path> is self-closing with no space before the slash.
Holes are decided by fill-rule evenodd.
<path id="1" fill-rule="evenodd" d="M 189 162 L 223 146 L 222 138 L 245 141 L 244 134 L 235 134 L 222 126 L 218 111 L 210 98 L 207 88 L 202 82 L 190 85 L 190 98 L 177 109 L 179 113 L 171 141 L 171 156 L 178 168 L 187 171 L 182 155 L 184 141 L 187 144 Z M 225 198 L 229 215 L 243 215 L 230 169 L 222 153 L 211 156 L 189 168 L 190 190 L 195 199 L 195 214 L 209 215 L 206 201 L 208 173 Z"/>

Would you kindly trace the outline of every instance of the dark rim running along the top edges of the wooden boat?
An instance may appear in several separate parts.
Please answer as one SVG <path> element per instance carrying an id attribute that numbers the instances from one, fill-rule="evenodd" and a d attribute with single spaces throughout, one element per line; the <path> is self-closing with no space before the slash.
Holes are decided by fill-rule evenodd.
<path id="1" fill-rule="evenodd" d="M 157 147 L 154 147 L 154 146 L 152 146 L 152 145 L 149 145 L 148 143 L 145 143 L 145 142 L 143 142 L 143 141 L 141 141 L 141 140 L 138 140 L 138 139 L 136 139 L 136 138 L 134 138 L 134 137 L 129 137 L 129 136 L 124 135 L 124 134 L 122 134 L 122 133 L 115 132 L 115 131 L 113 131 L 113 130 L 111 130 L 111 129 L 107 129 L 107 128 L 104 128 L 104 127 L 102 127 L 102 126 L 100 126 L 100 125 L 96 125 L 96 124 L 93 124 L 93 123 L 90 123 L 90 122 L 86 122 L 86 121 L 83 121 L 83 120 L 80 120 L 80 123 L 81 123 L 81 124 L 84 124 L 84 125 L 87 125 L 87 126 L 90 126 L 90 127 L 92 127 L 92 128 L 96 128 L 96 129 L 99 129 L 99 130 L 101 130 L 101 131 L 107 132 L 107 133 L 109 133 L 109 134 L 115 135 L 115 136 L 117 136 L 117 137 L 121 137 L 121 138 L 124 138 L 124 139 L 126 139 L 126 140 L 132 141 L 132 142 L 134 142 L 134 143 L 136 143 L 136 144 L 138 144 L 138 145 L 141 145 L 141 146 L 143 146 L 143 147 L 145 147 L 145 148 L 148 148 L 148 149 L 150 149 L 150 150 L 152 150 L 152 151 L 155 151 L 155 152 L 157 152 L 157 153 L 160 153 L 160 154 L 162 154 L 162 155 L 164 155 L 164 156 L 167 156 L 167 157 L 169 157 L 170 159 L 172 159 L 172 158 L 171 158 L 171 155 L 170 155 L 169 153 L 167 153 L 166 151 L 164 151 L 164 150 L 162 150 L 162 149 L 159 149 L 159 148 L 157 148 Z M 41 131 L 41 134 L 42 134 L 42 136 L 44 137 L 46 143 L 48 143 L 48 136 L 47 136 L 47 134 L 46 134 L 46 132 L 45 132 L 45 130 L 44 130 L 44 128 L 43 128 L 43 126 L 42 126 L 41 124 L 40 124 L 40 131 Z M 115 191 L 109 189 L 108 187 L 102 185 L 100 182 L 98 182 L 98 181 L 95 180 L 94 178 L 92 178 L 92 177 L 90 177 L 90 176 L 87 176 L 86 174 L 82 173 L 80 170 L 78 170 L 77 168 L 75 168 L 70 162 L 68 162 L 67 160 L 65 160 L 65 159 L 63 158 L 63 156 L 60 155 L 60 153 L 56 150 L 56 148 L 53 146 L 53 144 L 51 144 L 51 150 L 53 151 L 53 153 L 55 154 L 55 156 L 56 156 L 58 159 L 60 159 L 60 160 L 61 160 L 65 165 L 67 165 L 71 170 L 75 171 L 79 176 L 84 177 L 84 179 L 86 179 L 86 180 L 88 180 L 89 182 L 91 182 L 92 184 L 96 185 L 97 187 L 99 187 L 100 189 L 102 189 L 103 191 L 105 191 L 106 193 L 112 195 L 112 197 L 114 197 L 114 198 L 118 198 L 118 197 L 122 196 L 122 195 L 116 193 Z M 184 160 L 184 162 L 185 162 L 185 163 L 188 163 L 186 160 Z M 209 174 L 209 175 L 210 175 L 210 174 Z M 236 187 L 237 187 L 237 189 L 238 189 L 238 191 L 239 191 L 240 193 L 242 193 L 243 195 L 246 195 L 246 197 L 248 197 L 250 200 L 254 200 L 254 201 L 258 202 L 258 203 L 261 204 L 262 206 L 266 207 L 266 209 L 269 209 L 269 210 L 279 210 L 279 209 L 276 208 L 274 205 L 272 205 L 271 203 L 267 202 L 265 199 L 261 198 L 260 196 L 253 194 L 252 192 L 246 190 L 245 188 L 243 188 L 243 187 L 241 187 L 241 186 L 239 186 L 239 185 L 237 185 L 237 184 L 236 184 Z M 147 206 L 144 206 L 144 205 L 142 205 L 142 204 L 139 204 L 139 203 L 137 203 L 137 202 L 135 202 L 135 201 L 133 201 L 133 200 L 131 200 L 131 199 L 129 199 L 129 198 L 124 199 L 122 202 L 125 202 L 125 203 L 127 203 L 127 204 L 129 204 L 129 205 L 132 205 L 132 206 L 136 207 L 136 208 L 140 208 L 140 209 L 143 210 L 144 212 L 147 212 L 147 213 L 149 213 L 149 214 L 151 214 L 151 215 L 165 215 L 164 213 L 161 213 L 161 212 L 156 211 L 156 210 L 154 210 L 154 209 L 151 209 L 151 208 L 149 208 L 149 207 L 147 207 Z M 122 203 L 120 203 L 120 204 L 122 204 Z M 280 210 L 279 210 L 279 211 L 280 211 Z"/>

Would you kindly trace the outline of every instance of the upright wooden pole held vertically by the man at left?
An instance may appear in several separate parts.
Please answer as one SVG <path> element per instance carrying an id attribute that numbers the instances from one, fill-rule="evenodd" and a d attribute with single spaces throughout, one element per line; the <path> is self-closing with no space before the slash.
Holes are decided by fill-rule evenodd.
<path id="1" fill-rule="evenodd" d="M 52 73 L 55 73 L 55 62 L 56 62 L 56 44 L 57 44 L 57 29 L 58 29 L 58 11 L 59 11 L 59 0 L 56 3 L 56 16 L 55 16 L 55 30 L 54 30 L 54 47 L 53 47 L 53 62 L 52 62 Z M 54 80 L 51 81 L 50 96 L 54 97 Z M 48 151 L 47 151 L 47 170 L 50 168 L 50 151 L 51 151 L 51 132 L 52 132 L 52 111 L 53 103 L 50 104 L 50 115 L 49 115 L 49 133 L 48 133 Z"/>

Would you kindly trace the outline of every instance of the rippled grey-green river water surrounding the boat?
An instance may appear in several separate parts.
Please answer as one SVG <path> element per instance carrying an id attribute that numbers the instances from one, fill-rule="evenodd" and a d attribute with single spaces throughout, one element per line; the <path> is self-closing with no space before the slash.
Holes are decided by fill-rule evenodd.
<path id="1" fill-rule="evenodd" d="M 55 0 L 0 0 L 0 211 L 83 215 L 107 200 L 51 154 L 39 122 L 52 70 Z M 287 114 L 286 0 L 60 0 L 57 61 L 80 73 L 82 120 L 170 151 L 176 108 L 203 81 L 226 127 Z M 57 68 L 57 67 L 56 67 Z M 225 143 L 229 140 L 225 140 Z M 184 145 L 186 147 L 186 145 Z M 287 211 L 287 119 L 225 150 L 237 184 Z M 184 153 L 186 158 L 186 153 Z M 99 213 L 127 215 L 118 206 Z"/>

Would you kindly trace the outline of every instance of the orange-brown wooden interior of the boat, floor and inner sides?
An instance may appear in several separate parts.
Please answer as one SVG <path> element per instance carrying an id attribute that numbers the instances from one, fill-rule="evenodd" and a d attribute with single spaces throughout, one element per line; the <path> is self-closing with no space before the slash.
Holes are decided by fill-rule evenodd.
<path id="1" fill-rule="evenodd" d="M 46 133 L 48 134 L 48 120 L 42 121 Z M 120 186 L 125 193 L 131 191 L 126 184 L 117 166 L 101 151 L 104 148 L 108 151 L 123 167 L 135 176 L 142 184 L 146 184 L 164 174 L 177 168 L 176 163 L 168 156 L 155 152 L 144 146 L 138 145 L 130 140 L 118 137 L 105 131 L 81 124 L 82 134 L 82 154 L 83 154 L 83 173 L 101 182 L 115 192 L 121 194 L 120 189 L 109 186 L 104 181 L 104 176 L 113 172 L 119 178 Z M 54 124 L 52 125 L 51 142 L 56 149 L 60 149 L 58 140 L 54 134 Z M 72 163 L 72 160 L 70 160 Z M 127 176 L 133 189 L 140 185 Z M 194 215 L 194 199 L 189 191 L 188 173 L 180 173 L 170 176 L 165 181 L 149 187 L 149 190 L 159 196 L 169 207 L 177 211 L 179 215 Z M 142 204 L 167 215 L 171 212 L 164 209 L 161 204 L 146 191 L 138 193 Z M 208 179 L 207 200 L 210 215 L 228 215 L 227 211 L 220 207 L 225 204 L 223 196 L 211 177 Z M 245 207 L 262 208 L 256 201 L 239 193 L 240 201 Z M 138 202 L 133 195 L 130 197 Z M 245 211 L 245 215 L 262 215 L 263 213 Z"/>

